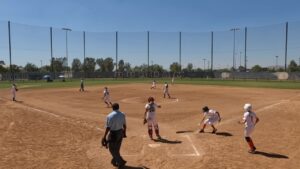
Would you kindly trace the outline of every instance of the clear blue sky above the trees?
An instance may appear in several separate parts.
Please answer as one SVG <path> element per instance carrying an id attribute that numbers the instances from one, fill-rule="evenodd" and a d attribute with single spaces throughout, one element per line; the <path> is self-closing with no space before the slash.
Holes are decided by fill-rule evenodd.
<path id="1" fill-rule="evenodd" d="M 285 22 L 289 22 L 288 61 L 300 57 L 300 1 L 297 0 L 0 0 L 0 60 L 8 60 L 7 21 L 11 21 L 12 62 L 49 63 L 49 27 L 53 27 L 54 56 L 65 56 L 68 33 L 69 64 L 83 58 L 86 31 L 87 57 L 118 57 L 139 65 L 150 62 L 165 68 L 179 60 L 203 68 L 211 60 L 214 32 L 214 67 L 233 65 L 233 32 L 236 32 L 236 65 L 244 64 L 244 28 L 248 27 L 248 65 L 272 66 L 275 56 L 284 64 Z"/>

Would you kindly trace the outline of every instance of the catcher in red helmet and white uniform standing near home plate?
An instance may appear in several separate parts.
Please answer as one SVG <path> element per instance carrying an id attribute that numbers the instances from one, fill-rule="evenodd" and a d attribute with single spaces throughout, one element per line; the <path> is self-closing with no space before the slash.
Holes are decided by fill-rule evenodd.
<path id="1" fill-rule="evenodd" d="M 158 139 L 161 139 L 160 135 L 159 135 L 159 128 L 158 128 L 158 123 L 156 121 L 156 109 L 157 108 L 161 108 L 160 105 L 154 103 L 154 98 L 153 97 L 149 97 L 148 98 L 148 103 L 145 106 L 145 114 L 144 114 L 144 124 L 148 124 L 148 134 L 150 139 L 152 140 L 152 134 L 153 134 L 153 130 L 152 128 L 154 127 L 155 130 L 155 134 L 156 137 Z"/>

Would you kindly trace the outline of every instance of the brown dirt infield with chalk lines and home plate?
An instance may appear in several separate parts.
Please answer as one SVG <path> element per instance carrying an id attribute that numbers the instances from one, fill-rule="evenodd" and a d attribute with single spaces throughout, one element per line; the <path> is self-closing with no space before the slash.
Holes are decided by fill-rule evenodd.
<path id="1" fill-rule="evenodd" d="M 101 100 L 103 86 L 21 89 L 18 102 L 0 90 L 0 168 L 110 169 L 110 154 L 100 147 L 104 121 L 111 111 Z M 121 154 L 128 169 L 299 168 L 300 91 L 195 85 L 109 86 L 113 102 L 127 115 L 128 133 Z M 157 111 L 162 141 L 151 141 L 143 126 L 147 97 L 162 105 Z M 249 154 L 243 138 L 243 104 L 254 105 L 260 123 Z M 223 118 L 217 134 L 198 133 L 201 107 L 217 109 Z"/>

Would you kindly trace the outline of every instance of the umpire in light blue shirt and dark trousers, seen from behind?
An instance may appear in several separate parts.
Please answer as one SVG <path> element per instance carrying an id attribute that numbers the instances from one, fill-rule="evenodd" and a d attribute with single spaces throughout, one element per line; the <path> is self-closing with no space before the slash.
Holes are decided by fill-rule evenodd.
<path id="1" fill-rule="evenodd" d="M 118 103 L 114 103 L 112 109 L 113 111 L 106 118 L 106 130 L 102 138 L 102 146 L 108 147 L 112 155 L 111 164 L 123 168 L 126 161 L 120 155 L 120 149 L 123 138 L 126 137 L 126 119 L 125 114 L 119 111 Z"/>

